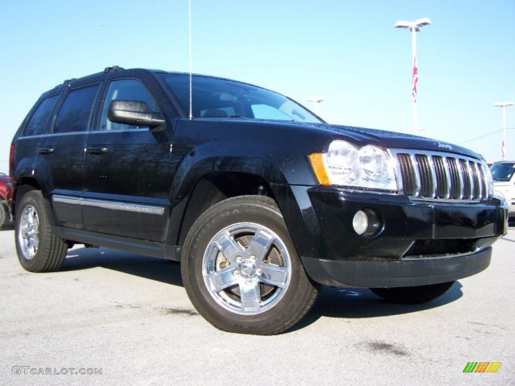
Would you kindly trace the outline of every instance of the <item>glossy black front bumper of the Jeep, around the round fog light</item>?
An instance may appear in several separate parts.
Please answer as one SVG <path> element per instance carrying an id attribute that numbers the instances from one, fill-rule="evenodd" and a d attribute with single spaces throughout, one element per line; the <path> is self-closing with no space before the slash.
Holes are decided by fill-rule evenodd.
<path id="1" fill-rule="evenodd" d="M 507 232 L 507 206 L 494 197 L 444 203 L 334 187 L 290 188 L 304 226 L 290 225 L 289 214 L 285 219 L 307 274 L 321 284 L 405 287 L 460 279 L 486 269 L 491 244 Z M 373 237 L 357 235 L 352 226 L 364 208 L 382 219 Z"/>

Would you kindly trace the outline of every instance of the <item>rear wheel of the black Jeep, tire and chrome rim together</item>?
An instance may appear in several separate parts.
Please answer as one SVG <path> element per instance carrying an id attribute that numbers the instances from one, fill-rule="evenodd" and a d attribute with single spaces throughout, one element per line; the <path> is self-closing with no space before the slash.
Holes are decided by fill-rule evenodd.
<path id="1" fill-rule="evenodd" d="M 27 192 L 16 205 L 16 252 L 27 271 L 57 271 L 66 257 L 68 245 L 52 231 L 51 214 L 52 209 L 39 190 Z"/>

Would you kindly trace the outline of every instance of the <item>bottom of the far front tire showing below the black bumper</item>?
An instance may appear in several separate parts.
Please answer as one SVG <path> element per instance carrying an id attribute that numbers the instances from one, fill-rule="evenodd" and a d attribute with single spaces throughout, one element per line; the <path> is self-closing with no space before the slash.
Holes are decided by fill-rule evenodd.
<path id="1" fill-rule="evenodd" d="M 370 288 L 370 290 L 390 303 L 421 304 L 443 295 L 453 284 L 454 282 L 447 282 L 417 287 Z"/>

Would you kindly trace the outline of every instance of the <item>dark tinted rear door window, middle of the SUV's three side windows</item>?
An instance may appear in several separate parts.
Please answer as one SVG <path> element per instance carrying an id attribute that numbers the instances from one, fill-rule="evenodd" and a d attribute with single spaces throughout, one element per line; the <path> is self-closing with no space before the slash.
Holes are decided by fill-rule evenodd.
<path id="1" fill-rule="evenodd" d="M 88 130 L 91 108 L 97 90 L 98 84 L 94 84 L 70 91 L 57 114 L 54 133 Z"/>

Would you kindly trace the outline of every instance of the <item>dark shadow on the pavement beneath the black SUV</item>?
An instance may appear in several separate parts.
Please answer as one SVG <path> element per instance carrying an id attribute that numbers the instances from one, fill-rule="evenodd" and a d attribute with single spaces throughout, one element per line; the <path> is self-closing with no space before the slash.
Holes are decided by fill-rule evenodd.
<path id="1" fill-rule="evenodd" d="M 177 262 L 147 257 L 106 248 L 76 248 L 68 251 L 61 271 L 106 268 L 161 283 L 183 287 L 181 266 Z M 392 304 L 373 294 L 368 288 L 322 287 L 313 309 L 294 328 L 304 328 L 321 317 L 359 319 L 399 315 L 440 307 L 462 296 L 461 284 L 456 282 L 438 299 L 419 305 Z"/>

